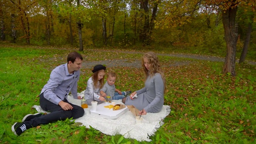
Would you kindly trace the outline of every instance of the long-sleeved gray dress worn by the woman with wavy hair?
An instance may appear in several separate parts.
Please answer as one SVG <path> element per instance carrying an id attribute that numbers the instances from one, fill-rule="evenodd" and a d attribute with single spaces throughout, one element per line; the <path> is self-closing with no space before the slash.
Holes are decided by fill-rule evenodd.
<path id="1" fill-rule="evenodd" d="M 145 87 L 137 90 L 138 98 L 126 98 L 125 105 L 133 105 L 138 110 L 146 112 L 160 112 L 164 105 L 164 82 L 161 74 L 156 73 L 153 77 L 146 79 Z"/>

